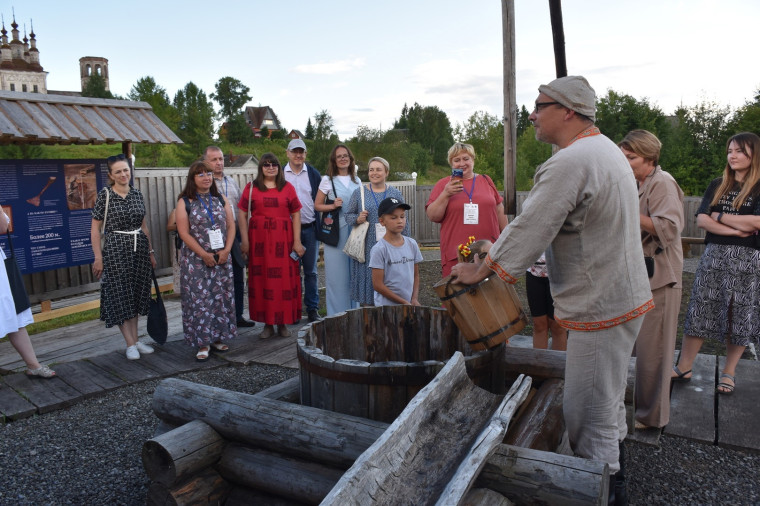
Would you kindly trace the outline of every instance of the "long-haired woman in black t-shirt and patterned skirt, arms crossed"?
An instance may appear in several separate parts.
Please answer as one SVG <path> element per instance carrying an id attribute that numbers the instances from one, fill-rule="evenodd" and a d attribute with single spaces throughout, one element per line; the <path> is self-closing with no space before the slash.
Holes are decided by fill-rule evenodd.
<path id="1" fill-rule="evenodd" d="M 707 247 L 694 277 L 684 324 L 681 357 L 673 381 L 689 381 L 705 338 L 726 344 L 719 394 L 736 386 L 736 365 L 750 340 L 760 335 L 760 137 L 736 134 L 728 140 L 723 177 L 707 188 L 697 225 Z"/>

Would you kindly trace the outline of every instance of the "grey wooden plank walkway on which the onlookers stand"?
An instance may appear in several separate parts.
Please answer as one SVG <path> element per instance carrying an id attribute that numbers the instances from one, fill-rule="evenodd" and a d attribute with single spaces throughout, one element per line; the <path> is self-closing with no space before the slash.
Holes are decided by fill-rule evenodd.
<path id="1" fill-rule="evenodd" d="M 38 413 L 61 409 L 101 395 L 124 385 L 182 372 L 253 363 L 298 368 L 296 335 L 306 324 L 290 327 L 291 337 L 258 338 L 263 328 L 240 329 L 230 343 L 230 351 L 212 353 L 208 362 L 195 361 L 193 349 L 182 335 L 181 306 L 178 298 L 168 298 L 169 338 L 164 346 L 154 345 L 156 352 L 138 361 L 124 357 L 124 340 L 117 328 L 106 329 L 101 321 L 85 322 L 32 336 L 40 362 L 51 364 L 58 372 L 53 380 L 29 379 L 23 374 L 24 363 L 10 343 L 0 342 L 0 417 L 17 420 Z M 141 337 L 145 318 L 140 319 Z M 514 336 L 511 346 L 530 347 L 529 336 Z M 676 383 L 671 392 L 670 424 L 663 431 L 648 430 L 629 434 L 640 443 L 658 445 L 661 434 L 684 437 L 705 444 L 760 451 L 760 431 L 754 430 L 760 419 L 760 362 L 741 360 L 737 367 L 734 395 L 715 393 L 723 357 L 698 355 L 692 380 Z M 11 371 L 11 374 L 7 374 Z M 13 373 L 15 371 L 15 373 Z"/>

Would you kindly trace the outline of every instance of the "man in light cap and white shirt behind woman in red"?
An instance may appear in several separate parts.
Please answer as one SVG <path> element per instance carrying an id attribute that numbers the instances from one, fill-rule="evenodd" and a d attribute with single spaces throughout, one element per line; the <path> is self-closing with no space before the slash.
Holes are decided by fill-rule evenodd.
<path id="1" fill-rule="evenodd" d="M 301 244 L 306 253 L 301 257 L 301 267 L 304 277 L 304 304 L 309 322 L 318 321 L 319 286 L 317 282 L 317 224 L 319 213 L 314 210 L 314 199 L 322 176 L 319 171 L 306 163 L 306 143 L 301 139 L 293 139 L 288 143 L 288 164 L 285 165 L 285 180 L 296 189 L 298 200 L 301 201 Z"/>

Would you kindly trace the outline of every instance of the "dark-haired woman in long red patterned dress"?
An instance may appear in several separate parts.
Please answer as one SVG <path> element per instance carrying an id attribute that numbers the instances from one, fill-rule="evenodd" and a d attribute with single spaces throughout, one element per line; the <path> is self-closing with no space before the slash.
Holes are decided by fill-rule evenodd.
<path id="1" fill-rule="evenodd" d="M 245 186 L 238 208 L 240 248 L 248 255 L 251 319 L 264 322 L 262 339 L 275 334 L 275 325 L 278 335 L 288 337 L 286 325 L 301 318 L 298 262 L 306 250 L 301 244 L 301 202 L 272 153 L 261 157 L 259 173 Z"/>

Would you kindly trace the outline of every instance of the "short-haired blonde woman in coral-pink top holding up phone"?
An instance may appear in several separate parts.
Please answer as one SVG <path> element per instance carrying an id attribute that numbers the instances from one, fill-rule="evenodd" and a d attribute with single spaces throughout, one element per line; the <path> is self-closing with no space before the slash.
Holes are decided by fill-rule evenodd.
<path id="1" fill-rule="evenodd" d="M 475 173 L 475 150 L 455 143 L 449 149 L 452 176 L 438 181 L 425 204 L 430 221 L 441 224 L 441 266 L 448 276 L 457 263 L 457 246 L 467 238 L 496 241 L 507 226 L 502 196 L 485 174 Z M 461 171 L 459 177 L 458 171 Z"/>

